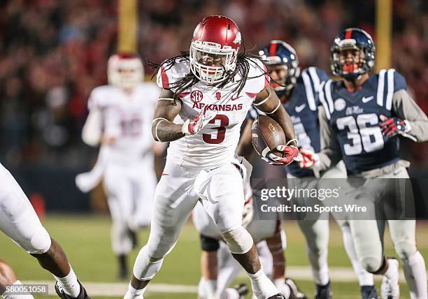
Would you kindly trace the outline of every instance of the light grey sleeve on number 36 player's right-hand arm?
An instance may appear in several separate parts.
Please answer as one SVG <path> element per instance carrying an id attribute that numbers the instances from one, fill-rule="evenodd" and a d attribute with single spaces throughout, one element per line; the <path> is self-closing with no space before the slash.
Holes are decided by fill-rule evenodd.
<path id="1" fill-rule="evenodd" d="M 394 92 L 392 111 L 410 124 L 411 130 L 407 132 L 409 135 L 414 136 L 418 142 L 428 140 L 428 117 L 405 89 Z"/>

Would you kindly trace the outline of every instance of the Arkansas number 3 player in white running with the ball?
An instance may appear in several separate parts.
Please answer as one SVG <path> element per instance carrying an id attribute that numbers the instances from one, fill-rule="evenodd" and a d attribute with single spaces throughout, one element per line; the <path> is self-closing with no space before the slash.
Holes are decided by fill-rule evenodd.
<path id="1" fill-rule="evenodd" d="M 205 17 L 193 33 L 190 52 L 164 61 L 157 73 L 162 87 L 152 134 L 170 142 L 164 173 L 157 184 L 148 244 L 139 252 L 125 298 L 142 298 L 164 256 L 199 198 L 234 258 L 251 279 L 257 298 L 283 298 L 266 277 L 251 235 L 242 226 L 243 181 L 250 171 L 236 159 L 241 124 L 252 103 L 280 124 L 290 140 L 271 163 L 286 165 L 299 157 L 290 116 L 269 87 L 265 66 L 238 53 L 241 32 L 224 16 Z"/>

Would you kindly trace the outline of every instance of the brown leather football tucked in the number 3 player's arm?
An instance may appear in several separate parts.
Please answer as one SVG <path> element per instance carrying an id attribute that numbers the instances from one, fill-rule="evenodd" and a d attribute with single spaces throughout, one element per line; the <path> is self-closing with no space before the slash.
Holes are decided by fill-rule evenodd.
<path id="1" fill-rule="evenodd" d="M 276 152 L 278 145 L 285 145 L 286 143 L 283 128 L 278 122 L 266 115 L 259 115 L 252 124 L 251 141 L 259 155 L 262 155 L 266 147 L 269 147 L 272 152 Z"/>

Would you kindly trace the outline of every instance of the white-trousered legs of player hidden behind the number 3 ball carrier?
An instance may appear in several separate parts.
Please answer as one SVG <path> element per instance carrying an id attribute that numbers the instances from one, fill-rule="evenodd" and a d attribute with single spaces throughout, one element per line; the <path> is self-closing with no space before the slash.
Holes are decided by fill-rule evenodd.
<path id="1" fill-rule="evenodd" d="M 285 278 L 286 247 L 285 232 L 281 229 L 279 219 L 254 219 L 252 207 L 252 189 L 249 182 L 245 183 L 245 205 L 242 225 L 255 242 L 260 262 L 266 275 L 287 299 L 304 299 L 306 296 L 297 288 L 294 281 Z M 201 240 L 201 281 L 198 287 L 199 299 L 239 299 L 248 291 L 248 286 L 241 284 L 233 289 L 228 288 L 241 272 L 241 266 L 231 256 L 229 248 L 224 244 L 221 232 L 213 219 L 201 204 L 194 207 L 192 220 Z M 243 297 L 242 297 L 243 298 Z"/>

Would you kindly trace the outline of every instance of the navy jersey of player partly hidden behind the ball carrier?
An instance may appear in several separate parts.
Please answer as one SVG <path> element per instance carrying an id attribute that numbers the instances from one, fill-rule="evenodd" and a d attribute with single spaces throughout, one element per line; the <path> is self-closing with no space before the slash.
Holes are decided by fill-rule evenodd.
<path id="1" fill-rule="evenodd" d="M 320 68 L 310 67 L 301 72 L 290 94 L 290 99 L 284 103 L 285 110 L 294 124 L 299 147 L 320 152 L 320 124 L 318 122 L 318 89 L 322 82 L 329 79 L 327 73 Z M 255 119 L 260 114 L 254 107 L 248 111 L 247 117 Z M 299 168 L 297 163 L 291 163 L 285 168 L 287 173 L 295 177 L 313 176 L 313 170 Z"/>

